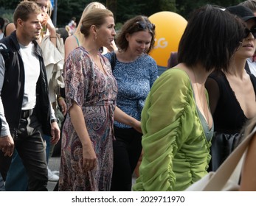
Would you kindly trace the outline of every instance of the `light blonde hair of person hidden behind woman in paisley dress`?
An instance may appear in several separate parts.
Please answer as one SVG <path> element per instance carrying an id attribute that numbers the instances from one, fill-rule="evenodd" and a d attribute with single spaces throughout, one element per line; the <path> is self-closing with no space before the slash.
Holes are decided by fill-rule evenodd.
<path id="1" fill-rule="evenodd" d="M 106 9 L 103 4 L 100 2 L 94 1 L 91 2 L 86 6 L 86 8 L 83 10 L 82 16 L 80 18 L 79 24 L 77 25 L 77 29 L 74 33 L 74 35 L 77 37 L 80 45 L 83 43 L 84 37 L 83 34 L 80 32 L 80 28 L 82 25 L 83 18 L 89 13 L 89 11 L 94 10 L 94 9 Z"/>

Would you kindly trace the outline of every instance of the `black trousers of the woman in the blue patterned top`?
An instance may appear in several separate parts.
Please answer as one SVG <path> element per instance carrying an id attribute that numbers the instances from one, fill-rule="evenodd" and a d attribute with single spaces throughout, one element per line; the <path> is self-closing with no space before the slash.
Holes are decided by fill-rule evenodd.
<path id="1" fill-rule="evenodd" d="M 132 174 L 142 152 L 142 134 L 114 127 L 114 168 L 111 191 L 131 191 Z"/>

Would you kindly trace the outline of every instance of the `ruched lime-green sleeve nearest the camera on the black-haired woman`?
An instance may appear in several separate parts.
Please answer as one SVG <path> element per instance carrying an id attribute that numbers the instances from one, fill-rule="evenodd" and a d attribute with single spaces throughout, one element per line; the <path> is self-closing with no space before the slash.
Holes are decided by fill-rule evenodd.
<path id="1" fill-rule="evenodd" d="M 173 157 L 193 129 L 193 90 L 184 71 L 165 71 L 142 110 L 143 160 L 134 191 L 173 191 Z"/>

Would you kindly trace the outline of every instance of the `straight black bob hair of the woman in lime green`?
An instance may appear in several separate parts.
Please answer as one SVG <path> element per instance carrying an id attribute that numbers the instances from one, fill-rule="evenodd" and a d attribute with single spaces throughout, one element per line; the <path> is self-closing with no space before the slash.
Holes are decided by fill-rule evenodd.
<path id="1" fill-rule="evenodd" d="M 206 71 L 227 71 L 244 36 L 240 18 L 207 4 L 190 16 L 179 43 L 178 62 L 189 67 L 200 63 Z"/>

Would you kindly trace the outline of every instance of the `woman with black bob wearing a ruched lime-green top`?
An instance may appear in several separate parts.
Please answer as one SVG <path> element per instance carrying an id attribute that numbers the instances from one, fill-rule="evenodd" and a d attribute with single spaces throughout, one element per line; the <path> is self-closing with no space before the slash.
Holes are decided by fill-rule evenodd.
<path id="1" fill-rule="evenodd" d="M 207 174 L 213 121 L 204 83 L 212 71 L 227 71 L 243 35 L 243 22 L 219 7 L 190 15 L 178 65 L 156 79 L 142 110 L 143 158 L 134 191 L 184 191 Z"/>

